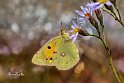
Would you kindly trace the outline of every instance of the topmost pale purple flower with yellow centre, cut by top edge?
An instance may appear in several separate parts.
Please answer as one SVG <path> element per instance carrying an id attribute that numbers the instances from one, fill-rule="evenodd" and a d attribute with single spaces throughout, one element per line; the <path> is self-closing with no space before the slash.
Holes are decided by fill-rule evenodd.
<path id="1" fill-rule="evenodd" d="M 102 8 L 104 4 L 106 4 L 107 6 L 112 5 L 112 3 L 109 0 L 97 0 L 97 2 L 87 3 L 86 6 L 93 8 L 93 10 L 97 10 L 97 9 Z"/>

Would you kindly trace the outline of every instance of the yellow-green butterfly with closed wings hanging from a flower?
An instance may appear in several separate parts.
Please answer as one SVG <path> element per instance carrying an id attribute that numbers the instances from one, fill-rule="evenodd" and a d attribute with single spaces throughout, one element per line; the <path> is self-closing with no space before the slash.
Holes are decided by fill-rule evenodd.
<path id="1" fill-rule="evenodd" d="M 49 40 L 33 56 L 32 63 L 55 66 L 58 70 L 69 70 L 79 61 L 79 52 L 63 29 L 61 34 Z"/>

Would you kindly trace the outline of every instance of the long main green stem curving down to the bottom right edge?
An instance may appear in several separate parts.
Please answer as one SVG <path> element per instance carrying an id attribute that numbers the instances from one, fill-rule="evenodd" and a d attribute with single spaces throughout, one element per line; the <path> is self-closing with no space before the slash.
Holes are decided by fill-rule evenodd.
<path id="1" fill-rule="evenodd" d="M 109 65 L 112 68 L 112 71 L 113 71 L 116 79 L 118 80 L 118 83 L 122 83 L 119 75 L 117 74 L 116 68 L 114 66 L 114 63 L 113 63 L 113 60 L 112 60 L 112 55 L 111 55 L 111 50 L 109 49 L 109 47 L 106 45 L 106 43 L 104 42 L 104 40 L 101 37 L 99 37 L 97 35 L 94 35 L 94 34 L 93 35 L 90 35 L 90 36 L 94 36 L 94 37 L 96 37 L 96 38 L 98 38 L 98 39 L 101 40 L 101 42 L 103 43 L 103 46 L 104 46 L 104 48 L 105 48 L 105 50 L 106 50 L 106 52 L 108 54 Z"/>

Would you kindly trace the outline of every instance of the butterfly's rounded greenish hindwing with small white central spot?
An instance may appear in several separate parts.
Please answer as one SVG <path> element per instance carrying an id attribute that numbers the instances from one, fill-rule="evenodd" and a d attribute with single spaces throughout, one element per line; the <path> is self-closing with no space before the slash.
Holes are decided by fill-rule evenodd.
<path id="1" fill-rule="evenodd" d="M 59 70 L 69 70 L 79 61 L 79 53 L 72 41 L 62 37 L 57 43 L 57 53 L 54 56 L 54 63 Z"/>

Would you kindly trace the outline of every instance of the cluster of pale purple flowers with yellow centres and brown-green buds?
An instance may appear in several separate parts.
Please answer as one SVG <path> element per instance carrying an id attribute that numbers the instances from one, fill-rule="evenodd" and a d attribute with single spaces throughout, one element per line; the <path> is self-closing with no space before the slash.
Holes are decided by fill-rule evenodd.
<path id="1" fill-rule="evenodd" d="M 78 20 L 72 21 L 72 30 L 70 31 L 71 33 L 73 33 L 69 39 L 72 39 L 72 43 L 74 43 L 78 37 L 79 34 L 83 35 L 83 36 L 89 36 L 90 33 L 88 33 L 87 29 L 86 30 L 82 30 L 80 23 L 84 23 L 86 19 L 89 20 L 90 24 L 92 25 L 92 27 L 95 27 L 99 36 L 100 36 L 100 30 L 99 30 L 99 24 L 97 22 L 97 20 L 93 17 L 94 13 L 97 16 L 97 19 L 99 20 L 100 24 L 102 25 L 103 23 L 103 17 L 101 14 L 101 8 L 104 6 L 112 6 L 112 3 L 109 0 L 95 0 L 94 2 L 90 2 L 87 3 L 85 7 L 80 6 L 81 11 L 76 10 L 76 14 L 78 15 L 76 18 Z M 80 17 L 79 17 L 80 16 Z"/>

